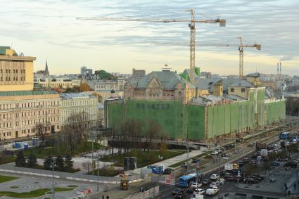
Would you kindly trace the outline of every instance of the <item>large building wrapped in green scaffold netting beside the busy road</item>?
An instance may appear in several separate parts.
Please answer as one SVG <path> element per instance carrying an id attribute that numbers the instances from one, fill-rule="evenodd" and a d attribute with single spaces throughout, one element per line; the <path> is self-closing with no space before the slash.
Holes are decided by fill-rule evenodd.
<path id="1" fill-rule="evenodd" d="M 286 118 L 284 98 L 262 86 L 259 74 L 246 79 L 201 79 L 199 70 L 151 72 L 125 84 L 123 100 L 107 101 L 106 127 L 134 119 L 155 121 L 172 139 L 213 141 L 246 134 Z"/>

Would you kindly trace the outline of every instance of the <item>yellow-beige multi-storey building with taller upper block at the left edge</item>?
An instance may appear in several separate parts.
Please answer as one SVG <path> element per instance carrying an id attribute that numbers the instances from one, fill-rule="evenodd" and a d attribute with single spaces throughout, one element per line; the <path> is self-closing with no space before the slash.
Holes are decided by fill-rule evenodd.
<path id="1" fill-rule="evenodd" d="M 0 46 L 0 139 L 50 133 L 60 130 L 59 95 L 53 91 L 34 91 L 33 61 Z M 39 125 L 41 124 L 41 125 Z M 41 129 L 42 128 L 42 129 Z"/>

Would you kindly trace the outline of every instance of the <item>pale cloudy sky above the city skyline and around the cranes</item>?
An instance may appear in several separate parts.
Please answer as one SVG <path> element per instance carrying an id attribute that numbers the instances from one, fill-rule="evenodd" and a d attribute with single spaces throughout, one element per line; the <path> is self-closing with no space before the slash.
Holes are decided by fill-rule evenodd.
<path id="1" fill-rule="evenodd" d="M 108 72 L 189 68 L 188 23 L 77 20 L 77 17 L 190 19 L 224 18 L 226 27 L 196 24 L 196 66 L 238 75 L 238 39 L 261 44 L 244 49 L 244 73 L 299 75 L 298 0 L 0 0 L 0 46 L 35 56 L 34 70 L 48 60 L 52 75 L 79 73 L 82 66 Z M 163 43 L 163 44 L 162 44 Z M 179 45 L 177 44 L 179 43 Z M 232 47 L 218 47 L 231 44 Z M 213 46 L 214 45 L 214 46 Z"/>

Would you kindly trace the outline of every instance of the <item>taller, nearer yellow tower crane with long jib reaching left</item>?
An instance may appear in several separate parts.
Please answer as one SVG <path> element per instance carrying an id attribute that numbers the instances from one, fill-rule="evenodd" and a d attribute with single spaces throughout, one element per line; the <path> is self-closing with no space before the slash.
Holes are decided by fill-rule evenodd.
<path id="1" fill-rule="evenodd" d="M 146 18 L 82 18 L 77 20 L 103 20 L 103 21 L 135 21 L 135 22 L 151 22 L 151 23 L 189 23 L 190 28 L 190 70 L 195 68 L 195 46 L 196 46 L 196 23 L 219 23 L 220 27 L 224 27 L 226 20 L 217 18 L 215 20 L 196 20 L 195 11 L 193 9 L 186 10 L 191 13 L 191 20 L 184 19 L 146 19 Z"/>

